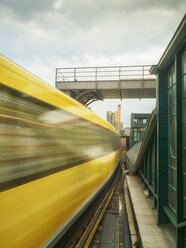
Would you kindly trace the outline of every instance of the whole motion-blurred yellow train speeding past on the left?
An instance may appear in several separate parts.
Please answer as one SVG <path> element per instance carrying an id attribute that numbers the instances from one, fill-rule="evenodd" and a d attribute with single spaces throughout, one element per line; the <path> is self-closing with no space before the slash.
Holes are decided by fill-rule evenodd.
<path id="1" fill-rule="evenodd" d="M 113 174 L 119 133 L 0 56 L 0 247 L 46 247 Z"/>

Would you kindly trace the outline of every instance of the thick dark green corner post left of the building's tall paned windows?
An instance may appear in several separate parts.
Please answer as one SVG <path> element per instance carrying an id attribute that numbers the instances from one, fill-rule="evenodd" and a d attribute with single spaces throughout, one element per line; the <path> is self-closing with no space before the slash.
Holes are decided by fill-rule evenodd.
<path id="1" fill-rule="evenodd" d="M 158 224 L 167 223 L 163 206 L 168 201 L 168 91 L 167 73 L 158 72 L 157 81 L 157 208 Z"/>

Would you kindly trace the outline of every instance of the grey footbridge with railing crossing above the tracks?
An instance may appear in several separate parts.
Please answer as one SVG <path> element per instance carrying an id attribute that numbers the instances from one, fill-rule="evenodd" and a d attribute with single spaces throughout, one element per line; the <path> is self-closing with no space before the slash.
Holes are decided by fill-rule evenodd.
<path id="1" fill-rule="evenodd" d="M 56 69 L 56 88 L 85 106 L 103 99 L 156 98 L 151 65 Z"/>

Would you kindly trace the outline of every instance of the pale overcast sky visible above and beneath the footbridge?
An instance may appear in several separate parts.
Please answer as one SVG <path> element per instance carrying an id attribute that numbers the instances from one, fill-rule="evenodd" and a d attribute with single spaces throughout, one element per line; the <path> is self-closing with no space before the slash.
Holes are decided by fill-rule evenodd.
<path id="1" fill-rule="evenodd" d="M 185 0 L 1 0 L 1 53 L 54 86 L 56 67 L 157 64 Z M 120 101 L 92 104 L 105 117 Z M 153 100 L 122 101 L 122 120 Z"/>

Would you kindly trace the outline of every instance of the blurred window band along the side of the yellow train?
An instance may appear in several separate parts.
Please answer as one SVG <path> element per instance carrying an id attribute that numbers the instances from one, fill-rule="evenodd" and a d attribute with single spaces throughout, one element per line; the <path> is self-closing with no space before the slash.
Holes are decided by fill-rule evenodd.
<path id="1" fill-rule="evenodd" d="M 0 184 L 33 180 L 120 149 L 120 137 L 110 130 L 3 85 L 0 115 Z"/>

